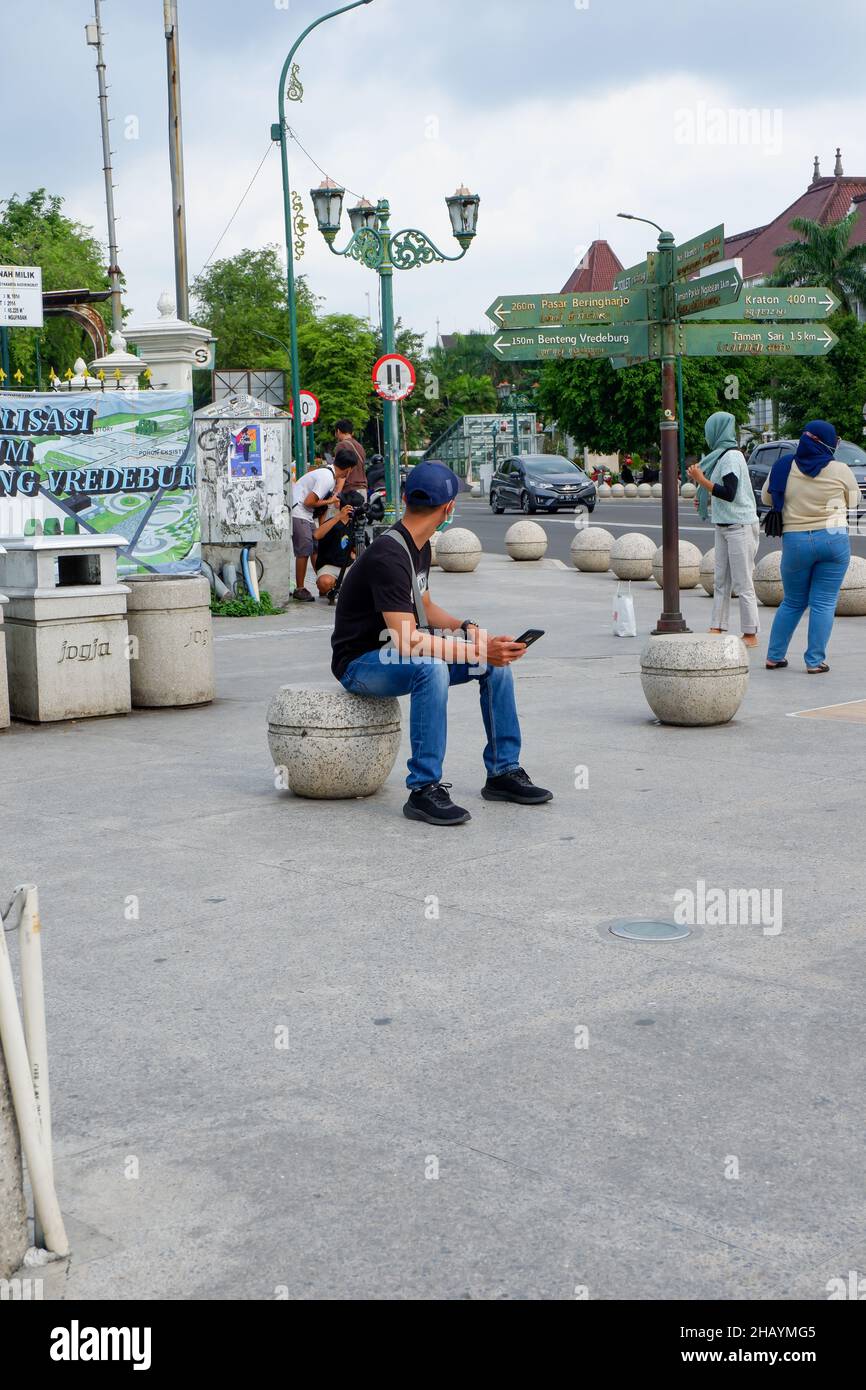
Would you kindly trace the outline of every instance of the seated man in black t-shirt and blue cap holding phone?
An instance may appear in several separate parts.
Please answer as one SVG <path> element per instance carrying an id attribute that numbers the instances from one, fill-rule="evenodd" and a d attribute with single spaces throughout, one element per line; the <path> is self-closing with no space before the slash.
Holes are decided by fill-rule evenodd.
<path id="1" fill-rule="evenodd" d="M 434 603 L 430 538 L 453 516 L 460 481 L 443 463 L 421 463 L 406 480 L 406 512 L 378 537 L 345 577 L 332 637 L 331 669 L 354 695 L 410 695 L 409 801 L 403 815 L 431 826 L 459 826 L 468 810 L 455 806 L 442 783 L 452 685 L 477 680 L 487 730 L 487 801 L 539 805 L 552 792 L 535 787 L 520 766 L 520 723 L 510 666 L 525 646 L 489 637 Z M 414 582 L 413 582 L 414 581 Z"/>

